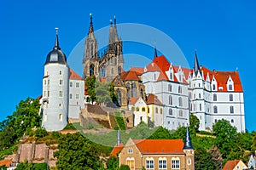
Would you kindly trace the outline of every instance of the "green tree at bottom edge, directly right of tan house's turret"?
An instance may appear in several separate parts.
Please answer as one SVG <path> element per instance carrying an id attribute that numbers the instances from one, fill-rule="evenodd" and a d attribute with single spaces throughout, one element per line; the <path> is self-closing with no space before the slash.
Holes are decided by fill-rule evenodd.
<path id="1" fill-rule="evenodd" d="M 195 150 L 195 169 L 215 170 L 215 162 L 212 161 L 212 155 L 201 148 Z"/>

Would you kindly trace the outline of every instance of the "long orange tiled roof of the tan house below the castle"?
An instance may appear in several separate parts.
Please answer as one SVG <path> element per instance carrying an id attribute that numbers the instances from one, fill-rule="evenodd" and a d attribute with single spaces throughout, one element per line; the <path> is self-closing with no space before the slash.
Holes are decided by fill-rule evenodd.
<path id="1" fill-rule="evenodd" d="M 182 139 L 133 139 L 143 154 L 183 154 Z"/>

